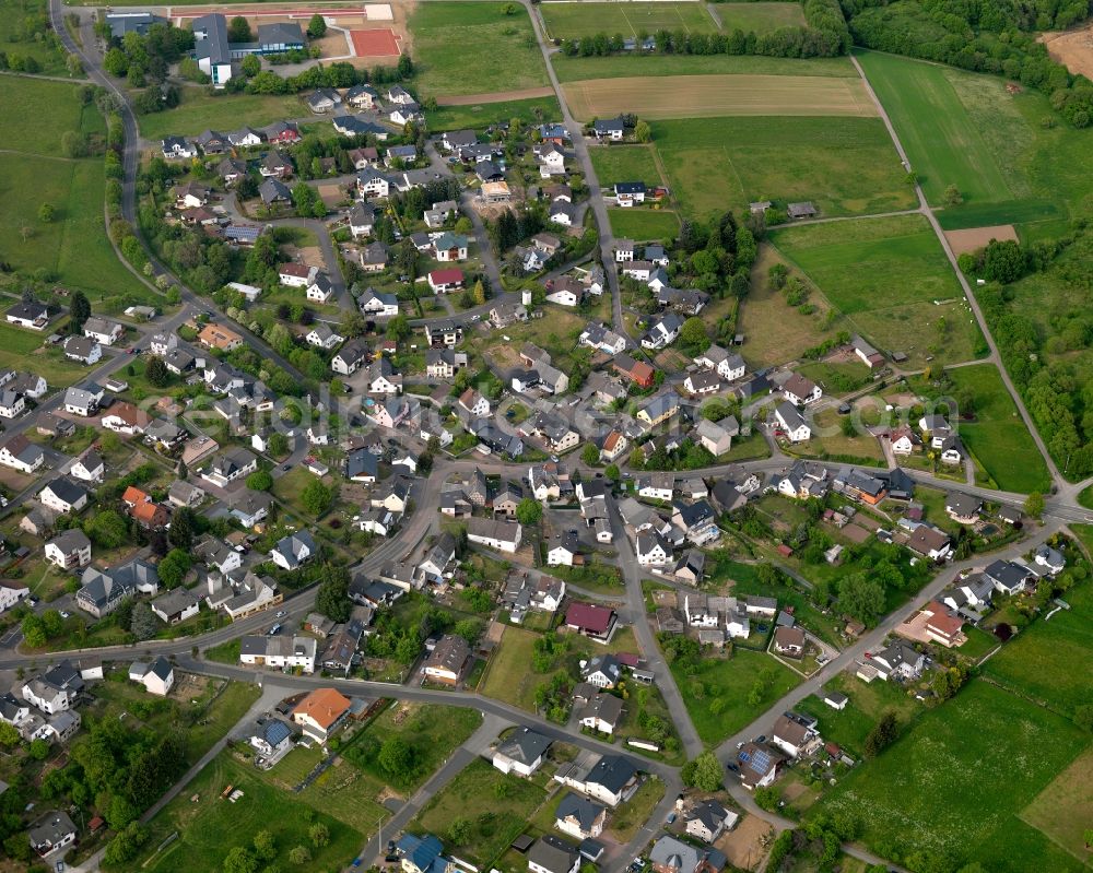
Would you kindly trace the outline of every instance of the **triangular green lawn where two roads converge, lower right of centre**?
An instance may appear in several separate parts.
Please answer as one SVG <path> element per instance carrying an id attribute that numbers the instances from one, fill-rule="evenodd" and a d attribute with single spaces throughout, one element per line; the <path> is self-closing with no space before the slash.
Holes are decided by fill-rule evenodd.
<path id="1" fill-rule="evenodd" d="M 701 659 L 694 673 L 685 672 L 679 661 L 671 670 L 694 728 L 706 745 L 717 745 L 747 727 L 801 682 L 797 673 L 766 652 L 742 648 L 736 648 L 731 657 Z M 763 682 L 763 697 L 752 706 L 748 697 L 757 681 Z"/>

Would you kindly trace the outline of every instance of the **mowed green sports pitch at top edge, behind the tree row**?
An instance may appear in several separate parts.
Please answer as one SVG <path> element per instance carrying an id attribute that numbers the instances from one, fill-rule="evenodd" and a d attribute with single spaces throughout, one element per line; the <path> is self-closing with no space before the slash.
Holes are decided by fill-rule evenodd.
<path id="1" fill-rule="evenodd" d="M 539 10 L 552 39 L 579 39 L 601 33 L 636 37 L 640 33 L 655 34 L 657 31 L 717 32 L 717 22 L 706 11 L 706 4 L 701 2 L 597 3 L 581 0 L 540 3 Z"/>

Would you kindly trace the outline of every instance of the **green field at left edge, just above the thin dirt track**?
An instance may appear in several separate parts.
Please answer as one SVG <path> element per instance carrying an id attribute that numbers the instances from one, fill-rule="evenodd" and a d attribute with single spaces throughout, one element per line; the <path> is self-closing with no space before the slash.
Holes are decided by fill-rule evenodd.
<path id="1" fill-rule="evenodd" d="M 4 76 L 0 89 L 0 118 L 33 119 L 33 123 L 9 123 L 4 150 L 62 157 L 61 138 L 70 130 L 105 134 L 106 125 L 94 105 L 81 106 L 75 84 L 47 79 Z"/>

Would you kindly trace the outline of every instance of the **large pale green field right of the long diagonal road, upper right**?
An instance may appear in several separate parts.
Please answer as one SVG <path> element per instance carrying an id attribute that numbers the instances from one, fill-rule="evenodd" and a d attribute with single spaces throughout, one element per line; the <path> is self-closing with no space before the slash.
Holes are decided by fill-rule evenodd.
<path id="1" fill-rule="evenodd" d="M 963 205 L 939 215 L 947 228 L 1034 228 L 1084 214 L 1093 132 L 1058 123 L 1044 95 L 893 55 L 858 57 L 930 202 L 941 205 L 949 185 L 963 194 Z"/>

